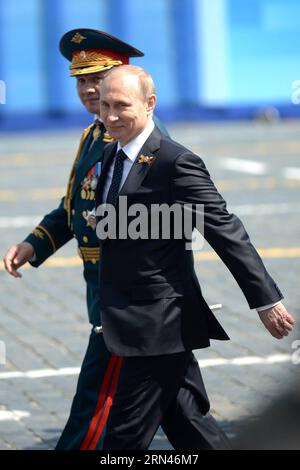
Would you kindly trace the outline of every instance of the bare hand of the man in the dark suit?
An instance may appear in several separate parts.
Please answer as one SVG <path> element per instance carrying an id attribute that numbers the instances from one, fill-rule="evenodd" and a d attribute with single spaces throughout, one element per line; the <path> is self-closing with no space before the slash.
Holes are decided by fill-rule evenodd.
<path id="1" fill-rule="evenodd" d="M 259 312 L 259 316 L 267 330 L 274 338 L 282 339 L 293 329 L 295 320 L 287 311 L 282 302 L 275 307 Z"/>

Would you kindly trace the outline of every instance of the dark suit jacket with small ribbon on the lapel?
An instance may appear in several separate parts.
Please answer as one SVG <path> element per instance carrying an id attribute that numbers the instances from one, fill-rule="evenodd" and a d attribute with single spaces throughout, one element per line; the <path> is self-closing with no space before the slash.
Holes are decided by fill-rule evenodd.
<path id="1" fill-rule="evenodd" d="M 102 203 L 116 144 L 107 147 L 96 191 Z M 250 308 L 282 294 L 267 273 L 241 221 L 229 214 L 203 161 L 155 128 L 133 164 L 119 196 L 141 203 L 203 204 L 204 236 L 231 271 Z M 118 211 L 117 203 L 116 210 Z M 129 219 L 130 222 L 130 219 Z M 227 334 L 201 294 L 186 239 L 108 239 L 101 242 L 100 296 L 108 349 L 121 356 L 176 353 L 209 345 Z"/>

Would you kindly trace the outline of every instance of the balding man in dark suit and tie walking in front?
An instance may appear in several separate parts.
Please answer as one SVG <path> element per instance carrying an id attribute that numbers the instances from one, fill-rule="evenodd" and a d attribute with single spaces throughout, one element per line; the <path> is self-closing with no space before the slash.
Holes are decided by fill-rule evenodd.
<path id="1" fill-rule="evenodd" d="M 105 151 L 96 190 L 101 318 L 108 349 L 123 358 L 106 450 L 146 449 L 181 393 L 191 351 L 209 346 L 211 338 L 228 339 L 202 297 L 192 252 L 186 249 L 191 231 L 180 238 L 174 225 L 169 237 L 161 230 L 158 237 L 152 236 L 157 204 L 188 205 L 193 216 L 197 205 L 203 205 L 204 237 L 231 271 L 250 308 L 259 310 L 276 338 L 286 336 L 294 323 L 278 286 L 241 221 L 227 212 L 203 161 L 155 127 L 155 104 L 153 81 L 139 67 L 118 67 L 101 84 L 101 118 L 117 141 Z M 122 212 L 124 199 L 127 214 Z M 107 212 L 103 203 L 109 204 Z M 133 218 L 136 204 L 147 212 L 139 223 L 148 233 L 141 228 L 140 238 L 128 236 L 134 223 L 138 225 Z"/>

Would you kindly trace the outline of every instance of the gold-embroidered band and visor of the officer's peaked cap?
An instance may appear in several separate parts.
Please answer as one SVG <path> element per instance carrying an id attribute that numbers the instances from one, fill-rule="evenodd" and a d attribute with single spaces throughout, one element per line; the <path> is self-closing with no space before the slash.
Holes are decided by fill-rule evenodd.
<path id="1" fill-rule="evenodd" d="M 121 60 L 115 60 L 109 56 L 96 51 L 80 51 L 73 55 L 70 65 L 71 77 L 85 73 L 101 72 L 115 65 L 122 65 Z"/>

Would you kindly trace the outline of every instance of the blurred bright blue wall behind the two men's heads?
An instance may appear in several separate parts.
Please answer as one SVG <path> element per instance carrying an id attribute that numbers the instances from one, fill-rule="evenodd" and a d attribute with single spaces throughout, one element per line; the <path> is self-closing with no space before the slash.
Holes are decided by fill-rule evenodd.
<path id="1" fill-rule="evenodd" d="M 76 27 L 145 52 L 133 63 L 153 75 L 165 120 L 299 116 L 299 18 L 299 0 L 0 0 L 0 129 L 87 119 L 58 51 Z"/>

